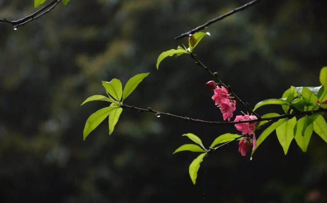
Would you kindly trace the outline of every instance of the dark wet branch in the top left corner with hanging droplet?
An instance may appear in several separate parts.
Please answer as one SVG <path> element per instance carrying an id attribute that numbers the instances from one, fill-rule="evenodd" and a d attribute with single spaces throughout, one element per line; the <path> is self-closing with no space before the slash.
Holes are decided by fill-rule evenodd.
<path id="1" fill-rule="evenodd" d="M 0 22 L 4 22 L 4 23 L 9 23 L 11 25 L 14 25 L 14 29 L 17 29 L 19 26 L 21 25 L 25 25 L 26 23 L 29 23 L 35 19 L 40 18 L 41 16 L 43 16 L 44 14 L 46 14 L 47 12 L 49 12 L 50 10 L 52 10 L 53 8 L 55 8 L 61 0 L 53 0 L 52 2 L 50 2 L 49 4 L 43 6 L 42 8 L 40 8 L 39 10 L 37 10 L 36 12 L 32 13 L 31 15 L 28 15 L 22 19 L 16 20 L 16 21 L 10 21 L 6 18 L 2 18 L 0 19 Z"/>

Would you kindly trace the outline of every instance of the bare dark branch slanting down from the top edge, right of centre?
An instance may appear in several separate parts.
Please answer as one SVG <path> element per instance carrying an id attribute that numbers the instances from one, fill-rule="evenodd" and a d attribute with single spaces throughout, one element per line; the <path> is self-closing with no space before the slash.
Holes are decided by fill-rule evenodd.
<path id="1" fill-rule="evenodd" d="M 217 21 L 220 21 L 220 20 L 226 18 L 227 16 L 230 16 L 230 15 L 232 15 L 232 14 L 238 12 L 238 11 L 244 10 L 245 8 L 248 8 L 248 7 L 258 3 L 259 1 L 261 1 L 261 0 L 254 0 L 254 1 L 251 1 L 251 2 L 245 4 L 245 5 L 241 6 L 241 7 L 234 8 L 233 10 L 229 11 L 228 13 L 225 13 L 224 15 L 221 15 L 221 16 L 219 16 L 217 18 L 214 18 L 214 19 L 206 22 L 203 25 L 200 25 L 200 26 L 198 26 L 198 27 L 196 27 L 196 28 L 194 28 L 194 29 L 192 29 L 192 30 L 190 30 L 188 32 L 185 32 L 185 33 L 181 34 L 180 36 L 176 37 L 175 40 L 180 39 L 182 37 L 186 37 L 186 36 L 189 37 L 190 35 L 204 29 L 205 27 L 207 27 L 207 26 L 209 26 L 209 25 L 211 25 L 211 24 L 213 24 L 213 23 L 215 23 Z"/>

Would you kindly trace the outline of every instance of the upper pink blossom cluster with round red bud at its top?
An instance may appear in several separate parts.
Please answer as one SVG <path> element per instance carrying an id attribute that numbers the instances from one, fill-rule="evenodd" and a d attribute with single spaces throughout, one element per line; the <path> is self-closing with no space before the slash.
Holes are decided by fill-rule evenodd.
<path id="1" fill-rule="evenodd" d="M 212 83 L 213 81 L 207 82 L 209 88 L 215 87 L 214 95 L 211 97 L 215 101 L 215 105 L 220 108 L 221 113 L 223 114 L 223 119 L 228 121 L 233 117 L 233 111 L 236 109 L 236 101 L 233 100 L 231 95 L 228 93 L 228 90 L 221 86 Z"/>

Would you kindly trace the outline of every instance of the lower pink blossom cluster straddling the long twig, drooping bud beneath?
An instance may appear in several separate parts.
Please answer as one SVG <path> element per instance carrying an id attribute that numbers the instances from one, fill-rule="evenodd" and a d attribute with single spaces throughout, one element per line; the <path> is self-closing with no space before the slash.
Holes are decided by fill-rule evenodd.
<path id="1" fill-rule="evenodd" d="M 245 114 L 243 116 L 236 116 L 234 121 L 246 121 L 254 119 L 257 119 L 255 115 Z M 257 145 L 257 139 L 255 137 L 255 134 L 253 133 L 254 125 L 255 122 L 235 124 L 237 130 L 241 131 L 243 135 L 247 135 L 246 137 L 242 138 L 242 140 L 240 140 L 240 142 L 238 143 L 238 152 L 241 153 L 242 156 L 246 155 L 246 153 L 250 150 L 251 146 L 253 146 L 253 150 Z M 253 135 L 252 139 L 250 138 L 250 135 Z"/>

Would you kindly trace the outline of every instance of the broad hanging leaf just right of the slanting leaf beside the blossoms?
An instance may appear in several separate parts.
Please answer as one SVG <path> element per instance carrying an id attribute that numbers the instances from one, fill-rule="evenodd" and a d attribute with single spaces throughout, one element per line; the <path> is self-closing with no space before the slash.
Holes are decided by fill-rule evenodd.
<path id="1" fill-rule="evenodd" d="M 294 138 L 294 126 L 296 124 L 296 117 L 286 120 L 282 125 L 276 128 L 276 134 L 279 143 L 284 149 L 284 154 L 287 154 L 289 145 Z"/>

